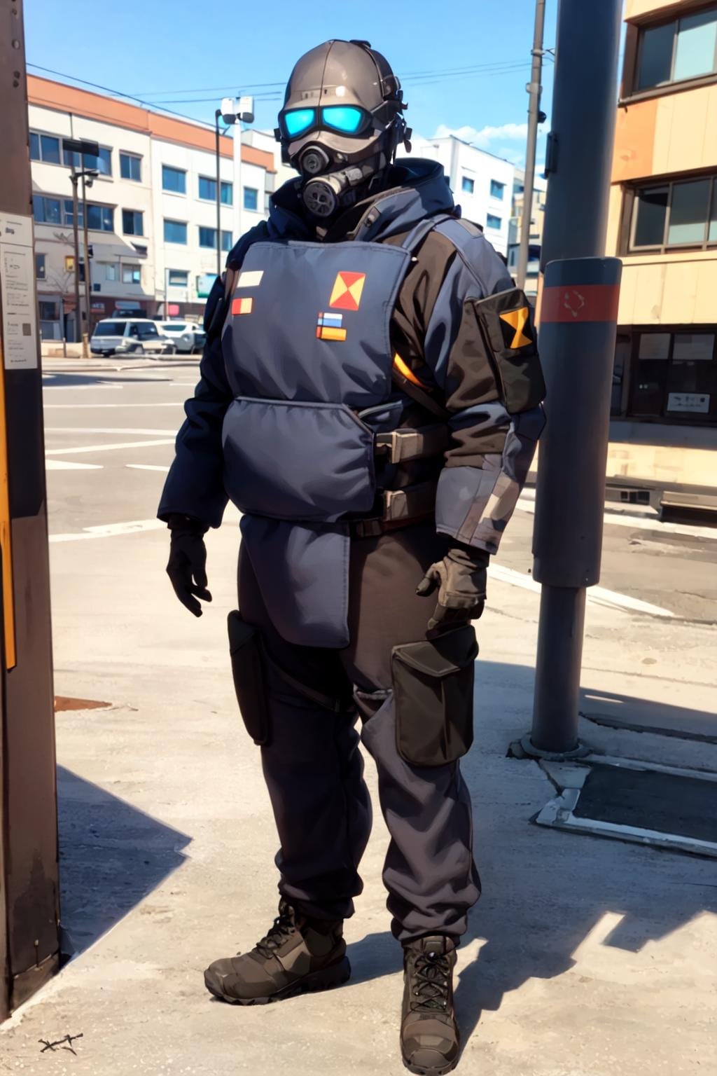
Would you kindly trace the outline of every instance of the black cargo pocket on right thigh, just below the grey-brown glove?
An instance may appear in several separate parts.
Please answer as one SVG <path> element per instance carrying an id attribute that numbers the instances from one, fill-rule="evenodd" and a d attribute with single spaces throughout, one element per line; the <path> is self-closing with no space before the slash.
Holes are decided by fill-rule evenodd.
<path id="1" fill-rule="evenodd" d="M 396 741 L 404 762 L 442 766 L 473 742 L 473 662 L 470 624 L 425 642 L 393 647 Z"/>

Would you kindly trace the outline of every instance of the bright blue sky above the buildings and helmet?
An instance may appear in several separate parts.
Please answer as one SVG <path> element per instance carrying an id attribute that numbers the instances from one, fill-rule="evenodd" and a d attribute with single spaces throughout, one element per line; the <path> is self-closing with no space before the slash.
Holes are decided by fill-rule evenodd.
<path id="1" fill-rule="evenodd" d="M 557 0 L 547 0 L 545 48 L 555 45 L 556 9 Z M 533 20 L 534 0 L 453 0 L 445 8 L 429 0 L 25 3 L 31 73 L 59 77 L 38 66 L 49 68 L 212 124 L 221 97 L 254 94 L 259 129 L 276 126 L 286 80 L 302 53 L 329 38 L 365 39 L 401 79 L 406 122 L 416 133 L 455 132 L 517 165 L 525 159 Z M 547 55 L 542 108 L 548 116 L 551 93 Z"/>

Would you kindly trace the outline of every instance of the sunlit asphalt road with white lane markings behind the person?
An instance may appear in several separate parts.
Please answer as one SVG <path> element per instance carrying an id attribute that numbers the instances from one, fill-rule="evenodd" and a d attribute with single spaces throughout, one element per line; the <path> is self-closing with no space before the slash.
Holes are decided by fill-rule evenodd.
<path id="1" fill-rule="evenodd" d="M 55 366 L 62 371 L 54 372 L 49 360 L 44 376 L 51 540 L 109 541 L 128 525 L 161 526 L 155 520 L 157 502 L 197 362 L 106 360 L 92 370 L 77 363 L 71 372 L 67 364 Z M 528 491 L 494 569 L 526 589 L 535 586 L 530 579 L 532 508 Z M 647 603 L 655 607 L 642 609 L 647 614 L 714 621 L 716 565 L 717 528 L 664 525 L 654 516 L 608 511 L 601 587 L 611 594 L 590 592 L 590 599 L 639 610 L 635 603 Z"/>

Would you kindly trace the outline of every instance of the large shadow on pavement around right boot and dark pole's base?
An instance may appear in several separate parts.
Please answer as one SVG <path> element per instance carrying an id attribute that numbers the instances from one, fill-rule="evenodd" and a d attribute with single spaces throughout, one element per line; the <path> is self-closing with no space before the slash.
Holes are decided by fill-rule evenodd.
<path id="1" fill-rule="evenodd" d="M 714 861 L 529 824 L 554 789 L 536 763 L 502 756 L 511 730 L 497 728 L 489 717 L 482 723 L 481 714 L 487 716 L 490 706 L 529 713 L 533 678 L 527 666 L 483 662 L 477 667 L 476 745 L 462 771 L 473 797 L 475 858 L 485 894 L 462 942 L 463 947 L 482 943 L 456 990 L 463 1046 L 482 1014 L 499 1009 L 506 994 L 531 979 L 569 972 L 576 949 L 596 928 L 596 945 L 636 953 L 705 911 L 717 914 Z M 590 689 L 584 695 L 606 697 Z M 610 699 L 626 714 L 633 705 L 640 704 L 643 712 L 647 707 L 630 696 L 611 694 Z M 656 705 L 656 710 L 665 720 L 687 723 L 704 717 L 687 708 Z M 601 929 L 607 914 L 611 919 Z M 348 955 L 353 983 L 401 967 L 388 931 L 367 935 L 349 947 Z M 397 997 L 397 1016 L 399 1004 Z"/>

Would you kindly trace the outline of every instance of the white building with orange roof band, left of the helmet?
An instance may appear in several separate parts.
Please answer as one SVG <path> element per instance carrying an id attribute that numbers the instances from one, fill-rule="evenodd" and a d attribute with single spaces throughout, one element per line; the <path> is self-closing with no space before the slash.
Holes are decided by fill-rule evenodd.
<path id="1" fill-rule="evenodd" d="M 35 273 L 44 340 L 76 339 L 71 169 L 64 139 L 100 147 L 87 195 L 89 330 L 115 313 L 201 315 L 221 252 L 266 216 L 274 156 L 220 139 L 217 240 L 214 132 L 115 98 L 28 76 Z M 87 325 L 80 204 L 81 318 Z"/>

